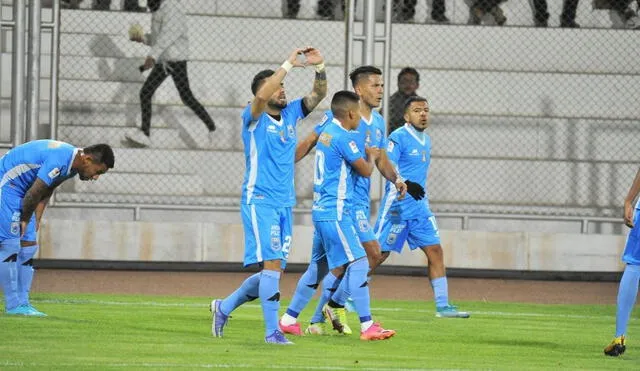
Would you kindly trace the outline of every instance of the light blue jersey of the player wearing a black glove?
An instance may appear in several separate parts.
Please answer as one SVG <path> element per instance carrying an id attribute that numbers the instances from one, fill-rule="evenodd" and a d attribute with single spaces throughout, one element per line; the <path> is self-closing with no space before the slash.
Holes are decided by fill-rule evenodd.
<path id="1" fill-rule="evenodd" d="M 425 189 L 424 199 L 417 201 L 413 197 L 397 199 L 395 185 L 387 181 L 382 198 L 381 215 L 400 220 L 430 217 L 427 190 L 427 175 L 431 163 L 431 138 L 425 132 L 419 132 L 410 124 L 396 129 L 389 136 L 387 155 L 403 179 L 418 183 Z"/>

